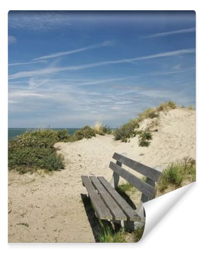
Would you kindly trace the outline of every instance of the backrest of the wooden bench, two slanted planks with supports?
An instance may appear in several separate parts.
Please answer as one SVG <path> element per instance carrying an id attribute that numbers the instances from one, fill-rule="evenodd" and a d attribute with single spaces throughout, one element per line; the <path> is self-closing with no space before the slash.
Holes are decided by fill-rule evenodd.
<path id="1" fill-rule="evenodd" d="M 112 180 L 112 185 L 114 187 L 117 186 L 119 176 L 121 176 L 123 179 L 125 179 L 127 182 L 142 192 L 141 201 L 143 203 L 155 198 L 155 182 L 158 182 L 162 174 L 159 170 L 148 167 L 142 163 L 136 162 L 117 153 L 114 153 L 113 159 L 115 159 L 117 162 L 114 163 L 111 161 L 109 167 L 114 172 Z M 144 175 L 146 177 L 146 181 L 141 180 L 132 173 L 128 172 L 126 169 L 122 168 L 122 164 Z"/>

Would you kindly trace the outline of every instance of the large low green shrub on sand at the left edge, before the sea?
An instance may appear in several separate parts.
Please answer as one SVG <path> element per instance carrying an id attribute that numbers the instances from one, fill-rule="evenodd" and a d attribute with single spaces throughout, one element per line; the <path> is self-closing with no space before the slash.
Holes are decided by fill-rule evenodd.
<path id="1" fill-rule="evenodd" d="M 39 168 L 49 171 L 63 169 L 63 157 L 57 154 L 54 144 L 66 136 L 67 131 L 38 130 L 11 139 L 8 144 L 9 169 L 16 169 L 21 174 Z"/>

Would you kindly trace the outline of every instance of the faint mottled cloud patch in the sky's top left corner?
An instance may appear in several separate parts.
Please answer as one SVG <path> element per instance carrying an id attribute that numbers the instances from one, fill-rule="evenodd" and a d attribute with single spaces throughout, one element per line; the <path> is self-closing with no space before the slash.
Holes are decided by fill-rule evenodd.
<path id="1" fill-rule="evenodd" d="M 69 14 L 64 11 L 10 11 L 9 27 L 35 32 L 70 25 Z"/>

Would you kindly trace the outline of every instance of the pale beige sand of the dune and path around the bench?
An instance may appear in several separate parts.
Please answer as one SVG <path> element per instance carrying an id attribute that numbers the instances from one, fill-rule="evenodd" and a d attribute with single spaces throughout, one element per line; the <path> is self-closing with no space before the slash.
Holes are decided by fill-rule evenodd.
<path id="1" fill-rule="evenodd" d="M 151 120 L 144 120 L 141 126 Z M 154 130 L 154 128 L 153 128 Z M 57 143 L 66 168 L 53 175 L 9 172 L 9 242 L 94 242 L 81 194 L 81 175 L 110 180 L 114 152 L 154 167 L 189 156 L 195 159 L 195 111 L 175 109 L 160 115 L 158 132 L 149 147 L 114 141 L 112 135 L 74 143 Z M 136 195 L 136 204 L 139 195 Z M 21 223 L 21 224 L 20 224 Z M 27 223 L 25 226 L 22 223 Z"/>

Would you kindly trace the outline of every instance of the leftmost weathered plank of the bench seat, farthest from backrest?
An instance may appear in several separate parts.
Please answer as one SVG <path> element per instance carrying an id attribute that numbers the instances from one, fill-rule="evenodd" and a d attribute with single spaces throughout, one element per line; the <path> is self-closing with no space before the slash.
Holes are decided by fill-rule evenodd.
<path id="1" fill-rule="evenodd" d="M 96 212 L 96 216 L 102 220 L 112 220 L 113 216 L 110 210 L 107 208 L 103 200 L 98 195 L 95 187 L 89 180 L 88 176 L 81 176 L 84 186 L 86 187 L 89 197 L 91 199 L 92 205 Z"/>

